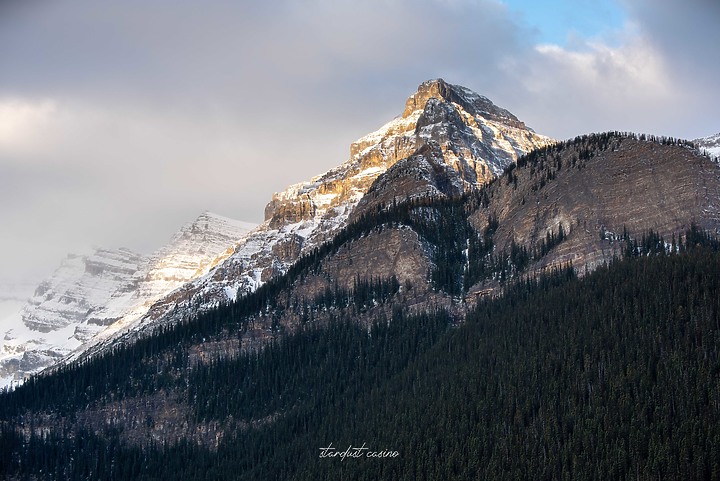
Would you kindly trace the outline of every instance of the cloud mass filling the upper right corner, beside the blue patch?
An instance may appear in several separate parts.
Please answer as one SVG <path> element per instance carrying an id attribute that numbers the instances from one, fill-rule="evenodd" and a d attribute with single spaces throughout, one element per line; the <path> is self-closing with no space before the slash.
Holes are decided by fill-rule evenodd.
<path id="1" fill-rule="evenodd" d="M 506 106 L 565 138 L 630 130 L 695 138 L 720 131 L 720 4 L 623 2 L 619 30 L 567 46 L 539 45 L 504 66 Z"/>

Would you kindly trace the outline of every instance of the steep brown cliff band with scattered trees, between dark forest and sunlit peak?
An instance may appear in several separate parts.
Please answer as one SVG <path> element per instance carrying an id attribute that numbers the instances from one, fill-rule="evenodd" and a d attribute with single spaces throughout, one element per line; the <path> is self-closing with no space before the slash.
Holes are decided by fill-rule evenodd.
<path id="1" fill-rule="evenodd" d="M 478 296 L 552 268 L 572 265 L 582 276 L 642 246 L 650 231 L 668 250 L 693 225 L 720 234 L 720 166 L 683 142 L 641 139 L 554 144 L 464 196 L 440 147 L 424 146 L 374 182 L 351 218 L 364 227 L 285 298 L 394 276 L 396 307 L 440 305 L 461 319 Z"/>

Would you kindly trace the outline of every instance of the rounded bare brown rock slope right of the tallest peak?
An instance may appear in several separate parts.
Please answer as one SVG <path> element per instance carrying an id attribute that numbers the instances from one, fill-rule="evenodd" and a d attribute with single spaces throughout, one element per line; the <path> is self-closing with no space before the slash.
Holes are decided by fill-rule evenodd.
<path id="1" fill-rule="evenodd" d="M 626 230 L 650 229 L 670 242 L 692 223 L 720 227 L 720 168 L 682 145 L 603 134 L 521 159 L 487 188 L 488 206 L 471 215 L 480 231 L 499 221 L 499 249 L 512 240 L 537 247 L 562 225 L 567 239 L 534 268 L 572 261 L 579 272 L 616 256 Z"/>

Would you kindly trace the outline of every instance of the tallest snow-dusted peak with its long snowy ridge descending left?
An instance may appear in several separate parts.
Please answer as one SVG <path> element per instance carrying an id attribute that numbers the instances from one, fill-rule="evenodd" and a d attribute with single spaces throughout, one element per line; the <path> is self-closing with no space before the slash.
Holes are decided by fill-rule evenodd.
<path id="1" fill-rule="evenodd" d="M 228 302 L 285 272 L 302 253 L 346 225 L 381 174 L 423 146 L 432 144 L 432 150 L 439 151 L 444 166 L 457 173 L 462 191 L 485 184 L 519 156 L 551 143 L 553 139 L 536 134 L 486 97 L 442 79 L 424 82 L 406 101 L 401 116 L 352 143 L 347 161 L 274 194 L 265 208 L 265 222 L 244 237 L 232 255 L 156 303 L 118 336 Z M 86 354 L 115 342 L 96 340 L 103 342 Z M 77 351 L 71 359 L 83 355 Z"/>

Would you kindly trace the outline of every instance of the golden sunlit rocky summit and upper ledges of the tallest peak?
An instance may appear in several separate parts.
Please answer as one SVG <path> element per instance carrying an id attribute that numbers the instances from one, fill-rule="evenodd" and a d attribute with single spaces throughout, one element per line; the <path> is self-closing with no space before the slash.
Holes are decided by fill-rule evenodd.
<path id="1" fill-rule="evenodd" d="M 553 141 L 510 112 L 442 79 L 421 84 L 399 117 L 350 146 L 350 159 L 309 182 L 274 194 L 265 208 L 272 229 L 325 215 L 359 201 L 375 179 L 428 143 L 442 151 L 470 189 L 502 173 L 519 155 Z"/>

